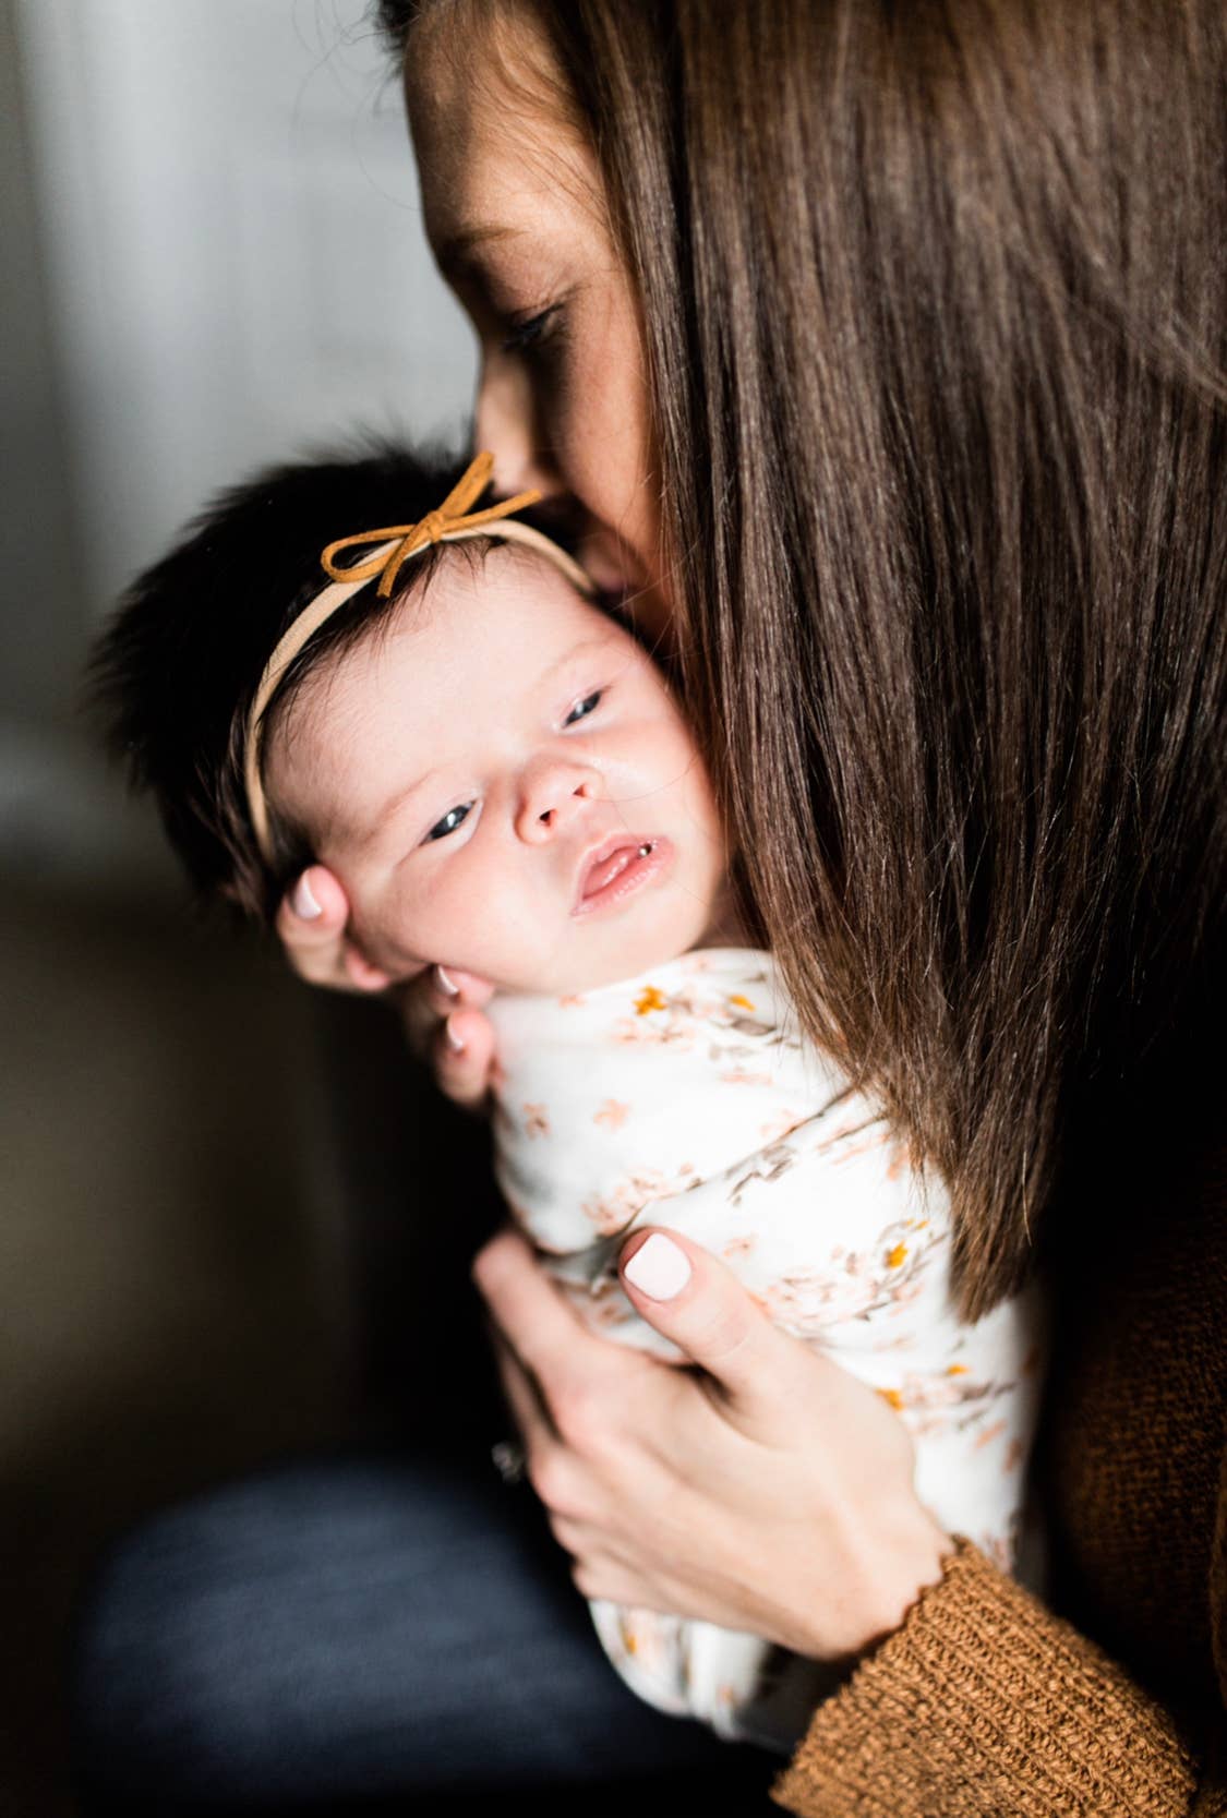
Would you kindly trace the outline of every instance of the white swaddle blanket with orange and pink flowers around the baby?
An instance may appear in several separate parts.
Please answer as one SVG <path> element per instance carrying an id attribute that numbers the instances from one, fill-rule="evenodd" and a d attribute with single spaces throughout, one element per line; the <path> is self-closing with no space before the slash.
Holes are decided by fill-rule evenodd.
<path id="1" fill-rule="evenodd" d="M 631 1307 L 622 1240 L 669 1225 L 776 1324 L 907 1422 L 916 1491 L 1009 1565 L 1040 1385 L 1031 1294 L 976 1325 L 951 1305 L 947 1193 L 802 1040 L 765 953 L 687 953 L 571 998 L 496 998 L 500 1187 L 596 1331 L 676 1358 Z M 754 1636 L 593 1603 L 627 1683 L 718 1733 L 789 1747 L 831 1676 Z"/>

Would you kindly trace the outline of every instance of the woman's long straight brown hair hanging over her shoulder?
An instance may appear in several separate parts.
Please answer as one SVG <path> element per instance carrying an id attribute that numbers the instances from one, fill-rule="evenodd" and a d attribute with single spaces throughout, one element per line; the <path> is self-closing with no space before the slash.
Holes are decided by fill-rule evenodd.
<path id="1" fill-rule="evenodd" d="M 949 1178 L 974 1316 L 1222 1002 L 1227 15 L 485 11 L 605 175 L 763 938 Z"/>

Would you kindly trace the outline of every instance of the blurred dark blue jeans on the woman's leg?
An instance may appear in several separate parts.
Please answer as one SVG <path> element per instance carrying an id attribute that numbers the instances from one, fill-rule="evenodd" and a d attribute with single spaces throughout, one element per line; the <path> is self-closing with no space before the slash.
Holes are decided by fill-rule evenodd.
<path id="1" fill-rule="evenodd" d="M 774 1758 L 625 1689 L 536 1498 L 485 1458 L 284 1467 L 156 1516 L 96 1574 L 73 1693 L 89 1813 L 544 1813 L 554 1789 L 778 1818 Z"/>

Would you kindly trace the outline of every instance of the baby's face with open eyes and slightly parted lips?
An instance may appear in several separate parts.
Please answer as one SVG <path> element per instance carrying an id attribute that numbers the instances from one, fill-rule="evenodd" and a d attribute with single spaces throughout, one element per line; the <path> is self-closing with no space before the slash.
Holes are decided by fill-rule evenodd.
<path id="1" fill-rule="evenodd" d="M 396 978 L 584 991 L 698 945 L 723 907 L 711 784 L 662 676 L 507 545 L 444 564 L 309 678 L 267 782 Z"/>

